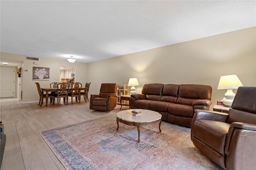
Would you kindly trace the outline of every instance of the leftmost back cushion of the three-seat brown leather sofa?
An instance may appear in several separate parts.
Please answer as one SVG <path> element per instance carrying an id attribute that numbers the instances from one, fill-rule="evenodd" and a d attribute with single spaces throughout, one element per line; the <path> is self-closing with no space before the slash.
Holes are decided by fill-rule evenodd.
<path id="1" fill-rule="evenodd" d="M 151 83 L 142 87 L 141 93 L 146 95 L 146 100 L 160 101 L 164 84 Z"/>

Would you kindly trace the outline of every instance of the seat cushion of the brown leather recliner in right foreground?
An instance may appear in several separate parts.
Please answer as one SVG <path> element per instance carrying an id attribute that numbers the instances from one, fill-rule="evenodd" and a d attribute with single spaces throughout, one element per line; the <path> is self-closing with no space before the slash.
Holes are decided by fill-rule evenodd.
<path id="1" fill-rule="evenodd" d="M 192 136 L 224 155 L 229 127 L 228 123 L 198 119 L 194 123 Z"/>

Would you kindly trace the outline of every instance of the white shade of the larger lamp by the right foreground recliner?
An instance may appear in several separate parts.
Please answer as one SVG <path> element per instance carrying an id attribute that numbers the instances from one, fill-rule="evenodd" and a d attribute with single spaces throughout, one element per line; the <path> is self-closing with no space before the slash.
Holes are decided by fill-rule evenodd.
<path id="1" fill-rule="evenodd" d="M 240 86 L 244 85 L 238 79 L 237 75 L 224 75 L 220 77 L 217 90 L 238 89 Z"/>

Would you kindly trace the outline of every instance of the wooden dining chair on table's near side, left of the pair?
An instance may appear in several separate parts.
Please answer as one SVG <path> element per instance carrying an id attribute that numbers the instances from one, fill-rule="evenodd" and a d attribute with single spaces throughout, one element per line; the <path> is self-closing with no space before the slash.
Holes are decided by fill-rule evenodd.
<path id="1" fill-rule="evenodd" d="M 54 94 L 54 96 L 57 97 L 58 105 L 59 98 L 63 98 L 64 104 L 68 105 L 68 91 L 70 91 L 70 85 L 68 83 L 58 83 L 57 91 L 58 92 Z"/>

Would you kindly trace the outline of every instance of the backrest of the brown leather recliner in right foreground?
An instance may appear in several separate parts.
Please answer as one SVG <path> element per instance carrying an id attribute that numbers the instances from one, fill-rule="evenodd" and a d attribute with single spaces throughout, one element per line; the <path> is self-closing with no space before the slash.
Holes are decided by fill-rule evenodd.
<path id="1" fill-rule="evenodd" d="M 242 122 L 256 125 L 256 87 L 238 87 L 231 107 L 227 123 Z"/>

